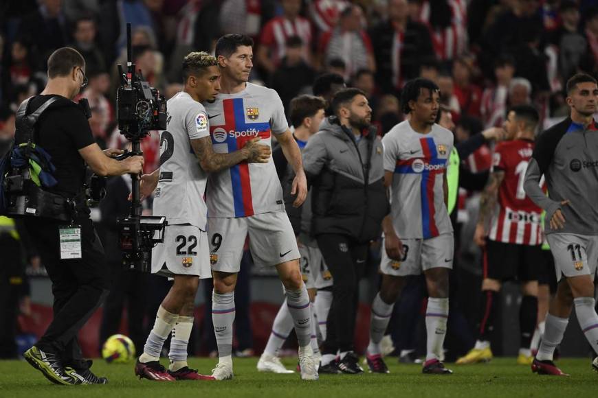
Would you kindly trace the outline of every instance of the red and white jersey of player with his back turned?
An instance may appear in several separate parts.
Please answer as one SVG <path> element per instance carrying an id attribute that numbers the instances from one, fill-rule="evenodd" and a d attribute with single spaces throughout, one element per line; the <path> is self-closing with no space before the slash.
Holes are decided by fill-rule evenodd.
<path id="1" fill-rule="evenodd" d="M 533 141 L 524 139 L 496 145 L 492 171 L 502 170 L 505 178 L 498 188 L 498 204 L 488 234 L 490 240 L 529 246 L 542 244 L 542 209 L 523 189 L 533 146 Z"/>

